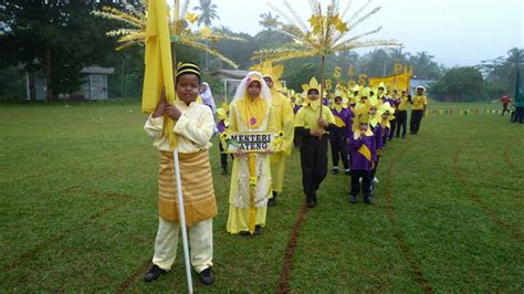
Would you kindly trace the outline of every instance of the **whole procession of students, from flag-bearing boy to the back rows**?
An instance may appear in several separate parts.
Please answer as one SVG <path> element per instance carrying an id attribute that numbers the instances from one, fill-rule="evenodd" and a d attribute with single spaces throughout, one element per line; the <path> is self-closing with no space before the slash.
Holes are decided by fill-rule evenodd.
<path id="1" fill-rule="evenodd" d="M 428 98 L 422 87 L 411 97 L 406 91 L 390 93 L 384 84 L 371 90 L 337 86 L 334 93 L 322 91 L 315 77 L 302 86 L 302 93 L 287 91 L 279 82 L 282 66 L 264 63 L 242 80 L 231 104 L 216 109 L 209 85 L 201 87 L 198 65 L 182 63 L 177 69 L 174 105 L 160 98 L 145 125 L 160 154 L 159 229 L 155 241 L 154 265 L 145 274 L 153 282 L 172 265 L 178 243 L 178 200 L 174 158 L 164 117 L 176 120 L 179 165 L 189 227 L 191 264 L 203 284 L 214 281 L 212 266 L 212 218 L 217 203 L 209 166 L 210 139 L 218 133 L 279 133 L 276 149 L 264 153 L 232 154 L 229 216 L 226 229 L 231 234 L 258 235 L 265 227 L 268 206 L 275 206 L 282 193 L 286 158 L 293 146 L 300 149 L 305 204 L 318 203 L 317 192 L 328 171 L 331 144 L 332 174 L 350 176 L 350 203 L 361 191 L 370 204 L 379 159 L 388 140 L 405 138 L 407 111 L 411 105 L 410 133 L 420 129 Z M 323 95 L 321 93 L 323 92 Z M 201 98 L 199 98 L 201 97 Z M 201 101 L 202 103 L 198 103 Z M 209 107 L 208 107 L 209 106 Z M 218 122 L 213 122 L 214 117 Z M 222 174 L 228 174 L 226 146 L 219 144 Z"/>

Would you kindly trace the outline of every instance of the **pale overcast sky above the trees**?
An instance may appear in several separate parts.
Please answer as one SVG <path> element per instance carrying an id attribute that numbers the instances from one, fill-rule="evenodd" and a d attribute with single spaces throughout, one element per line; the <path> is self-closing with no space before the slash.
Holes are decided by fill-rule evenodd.
<path id="1" fill-rule="evenodd" d="M 171 0 L 172 1 L 172 0 Z M 190 9 L 198 4 L 190 2 Z M 271 11 L 266 0 L 212 0 L 219 21 L 233 31 L 255 34 L 262 30 L 260 14 Z M 271 0 L 282 8 L 283 0 Z M 311 17 L 307 0 L 289 0 L 304 19 Z M 327 1 L 322 0 L 322 3 Z M 346 3 L 347 0 L 340 0 Z M 366 0 L 354 0 L 358 8 Z M 447 66 L 474 65 L 482 60 L 505 55 L 511 48 L 524 48 L 524 0 L 375 0 L 370 8 L 380 12 L 369 18 L 354 33 L 376 27 L 375 38 L 395 38 L 407 52 L 428 51 Z M 343 4 L 342 4 L 343 6 Z M 348 13 L 350 15 L 352 13 Z M 281 18 L 282 20 L 282 18 Z M 364 53 L 369 50 L 359 50 Z"/>

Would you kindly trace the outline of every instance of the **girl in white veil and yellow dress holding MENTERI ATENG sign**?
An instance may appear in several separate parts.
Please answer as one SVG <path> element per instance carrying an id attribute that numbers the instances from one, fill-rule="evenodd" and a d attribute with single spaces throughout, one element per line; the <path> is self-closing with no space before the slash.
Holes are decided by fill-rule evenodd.
<path id="1" fill-rule="evenodd" d="M 271 91 L 259 72 L 250 72 L 237 88 L 229 113 L 230 132 L 268 130 Z M 269 153 L 234 154 L 227 229 L 232 234 L 258 235 L 265 225 L 272 197 Z"/>

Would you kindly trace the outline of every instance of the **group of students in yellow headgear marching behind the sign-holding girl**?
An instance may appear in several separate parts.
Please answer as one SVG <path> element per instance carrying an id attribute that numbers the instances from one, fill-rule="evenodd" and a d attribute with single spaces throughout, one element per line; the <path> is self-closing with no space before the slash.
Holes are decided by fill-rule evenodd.
<path id="1" fill-rule="evenodd" d="M 297 103 L 300 97 L 292 95 L 292 103 L 303 105 L 295 106 L 295 122 L 296 135 L 302 141 L 301 161 L 307 206 L 316 206 L 316 191 L 327 175 L 328 141 L 332 174 L 339 172 L 338 164 L 342 161 L 344 174 L 352 177 L 350 202 L 358 202 L 357 195 L 361 190 L 364 202 L 370 204 L 373 188 L 378 182 L 376 172 L 384 146 L 394 137 L 400 137 L 400 132 L 401 137 L 406 137 L 408 104 L 412 104 L 411 134 L 418 133 L 428 103 L 423 88 L 417 88 L 413 99 L 406 91 L 398 95 L 395 90 L 392 95 L 387 95 L 384 83 L 380 83 L 377 93 L 356 85 L 353 93 L 346 96 L 347 91 L 339 88 L 333 95 L 331 107 L 326 105 L 328 101 L 323 99 L 322 111 L 317 109 L 322 104 L 317 98 L 316 80 L 312 78 L 303 88 L 307 94 L 305 102 Z"/>

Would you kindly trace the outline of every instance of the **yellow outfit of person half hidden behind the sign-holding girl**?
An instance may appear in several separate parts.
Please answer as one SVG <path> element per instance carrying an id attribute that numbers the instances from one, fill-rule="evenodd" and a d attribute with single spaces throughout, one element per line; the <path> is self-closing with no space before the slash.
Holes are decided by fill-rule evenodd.
<path id="1" fill-rule="evenodd" d="M 273 191 L 281 193 L 284 185 L 284 171 L 287 157 L 291 155 L 294 137 L 295 115 L 287 98 L 273 90 L 271 92 L 271 112 L 269 129 L 272 133 L 283 133 L 281 149 L 271 155 L 271 178 Z"/>

